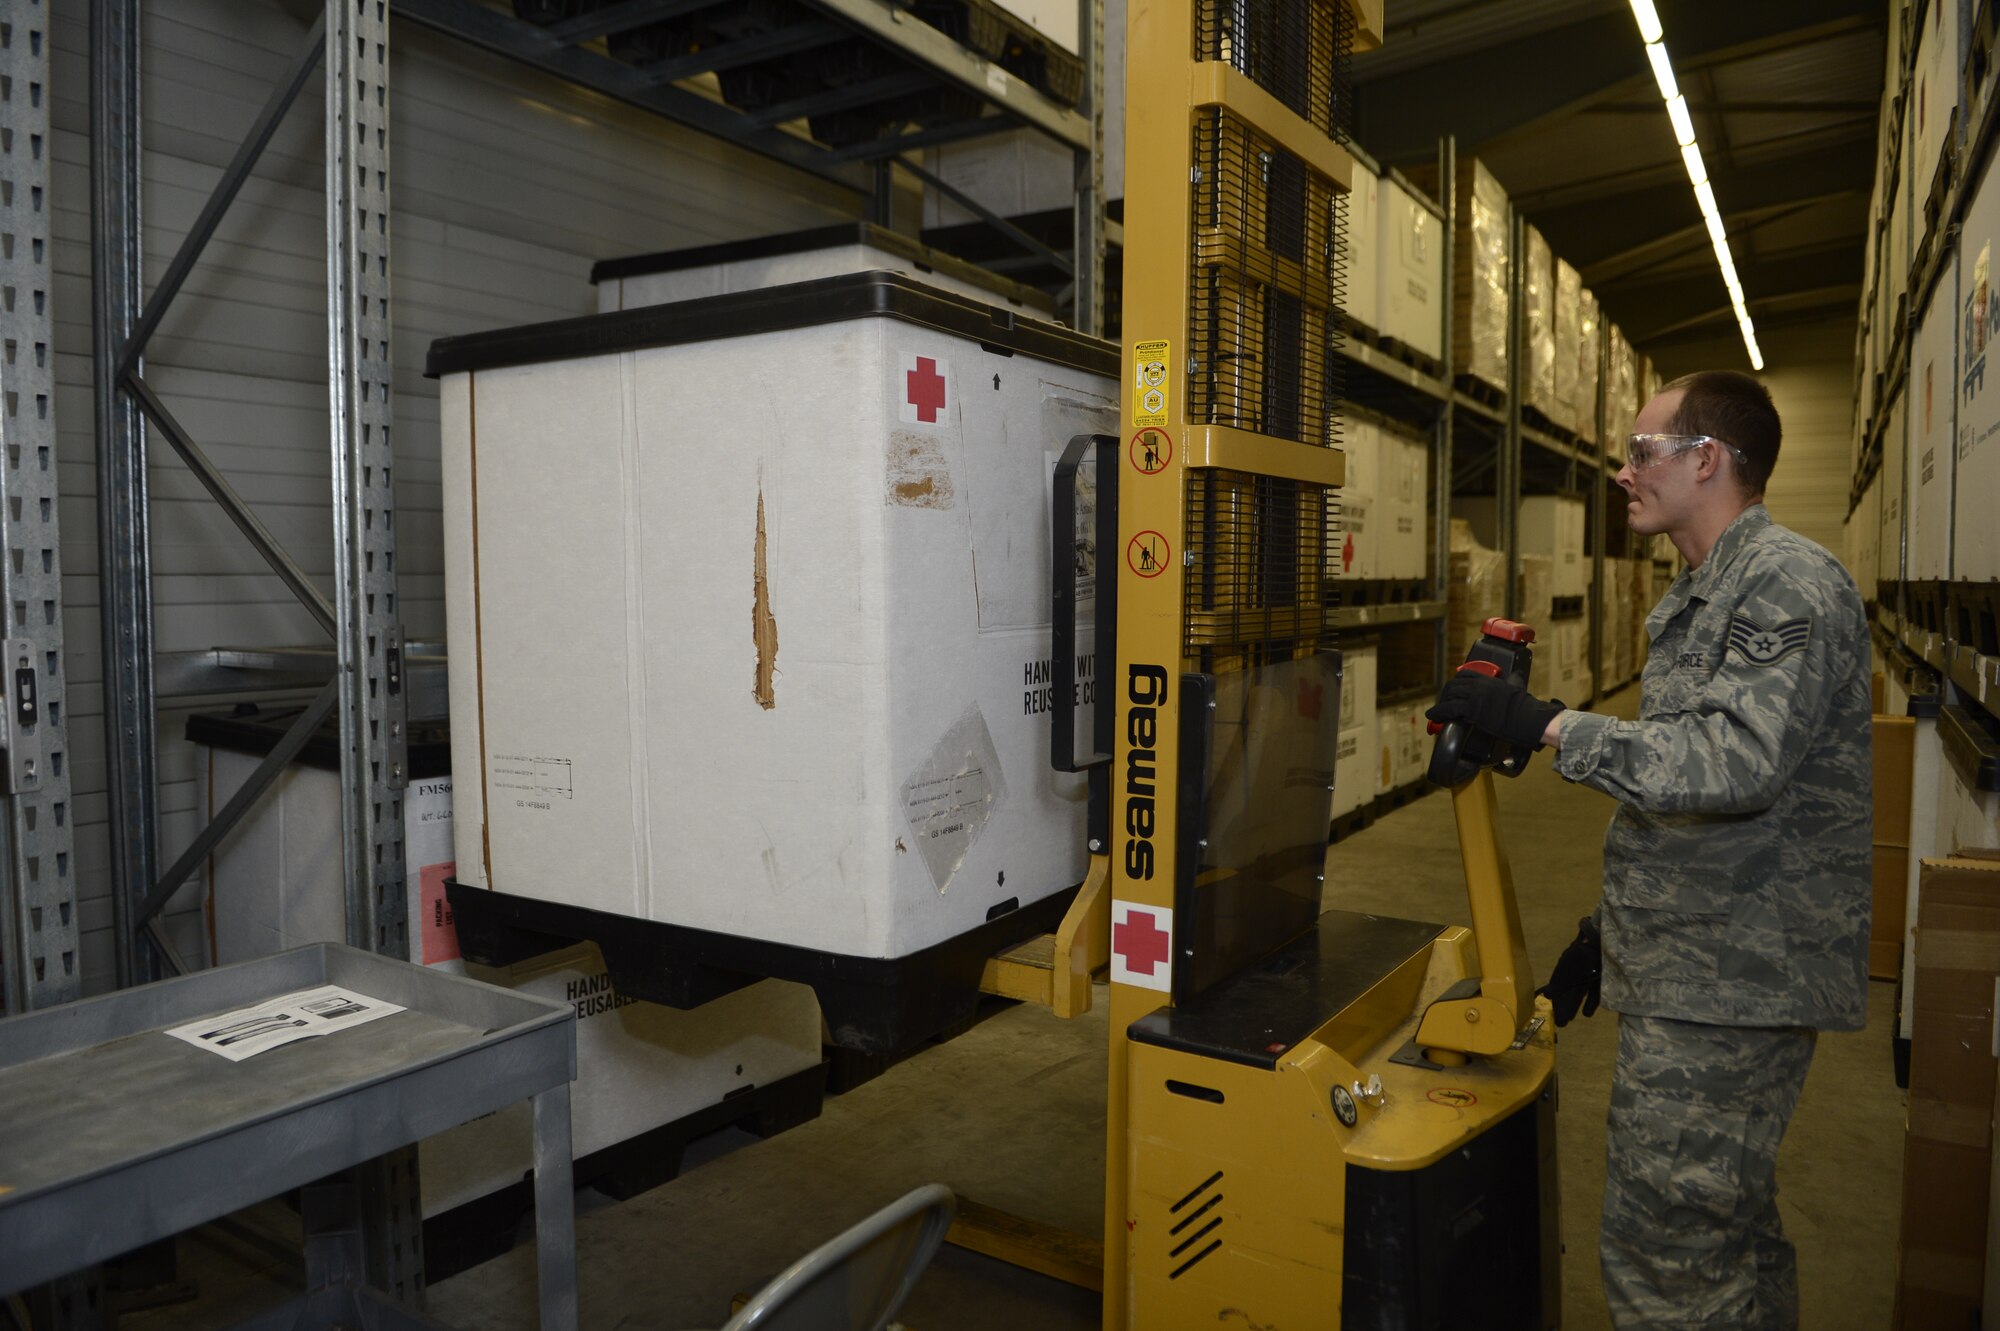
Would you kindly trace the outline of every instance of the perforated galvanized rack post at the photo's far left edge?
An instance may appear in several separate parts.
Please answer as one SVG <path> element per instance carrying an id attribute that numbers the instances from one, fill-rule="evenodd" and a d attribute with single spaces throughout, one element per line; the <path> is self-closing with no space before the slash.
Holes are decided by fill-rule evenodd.
<path id="1" fill-rule="evenodd" d="M 56 320 L 50 308 L 48 10 L 18 0 L 0 42 L 0 1013 L 82 997 L 62 687 Z M 12 610 L 8 610 L 12 608 Z M 24 675 L 20 671 L 26 671 Z M 22 687 L 32 693 L 20 697 Z"/>

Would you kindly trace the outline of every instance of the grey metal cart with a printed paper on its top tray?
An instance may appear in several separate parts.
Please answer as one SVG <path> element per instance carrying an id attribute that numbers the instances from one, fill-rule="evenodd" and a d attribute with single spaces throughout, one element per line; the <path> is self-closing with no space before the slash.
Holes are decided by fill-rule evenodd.
<path id="1" fill-rule="evenodd" d="M 404 1011 L 240 1063 L 166 1033 L 318 985 L 352 985 Z M 0 1021 L 0 1293 L 532 1097 L 542 1327 L 574 1331 L 574 1077 L 568 1003 L 338 943 Z M 308 1235 L 316 1219 L 308 1203 Z M 252 1325 L 312 1325 L 320 1309 L 328 1325 L 436 1325 L 360 1289 L 338 1249 L 320 1245 L 332 1279 L 308 1281 L 320 1287 Z M 302 1313 L 314 1317 L 300 1323 Z"/>

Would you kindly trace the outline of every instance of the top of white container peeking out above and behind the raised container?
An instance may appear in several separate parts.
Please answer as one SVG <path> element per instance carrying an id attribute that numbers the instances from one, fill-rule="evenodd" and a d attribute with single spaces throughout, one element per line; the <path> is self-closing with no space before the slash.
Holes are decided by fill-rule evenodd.
<path id="1" fill-rule="evenodd" d="M 692 250 L 668 250 L 598 264 L 598 314 L 666 306 L 676 300 L 760 292 L 850 272 L 900 272 L 928 286 L 1024 314 L 1050 314 L 1042 292 L 1008 282 L 950 254 L 872 222 L 760 236 Z"/>

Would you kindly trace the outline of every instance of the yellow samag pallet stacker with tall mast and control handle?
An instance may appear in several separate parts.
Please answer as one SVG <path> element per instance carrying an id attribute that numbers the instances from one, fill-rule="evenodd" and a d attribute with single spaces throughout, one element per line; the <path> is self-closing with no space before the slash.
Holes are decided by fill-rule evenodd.
<path id="1" fill-rule="evenodd" d="M 1078 757 L 1110 895 L 1106 1327 L 1556 1325 L 1554 1037 L 1492 823 L 1526 755 L 1438 739 L 1472 929 L 1322 911 L 1342 126 L 1378 34 L 1378 0 L 1130 4 L 1122 438 L 1092 446 L 1116 658 Z M 1080 612 L 1072 588 L 1058 660 Z M 1532 632 L 1488 628 L 1468 667 L 1526 679 Z"/>

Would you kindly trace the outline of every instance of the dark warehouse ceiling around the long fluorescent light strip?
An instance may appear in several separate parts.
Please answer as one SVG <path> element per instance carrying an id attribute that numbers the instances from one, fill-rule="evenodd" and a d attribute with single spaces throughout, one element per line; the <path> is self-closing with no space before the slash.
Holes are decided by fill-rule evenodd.
<path id="1" fill-rule="evenodd" d="M 1860 302 L 1884 0 L 1656 0 L 1758 328 Z M 1386 0 L 1354 60 L 1356 138 L 1390 166 L 1438 138 L 1514 206 L 1640 350 L 1734 326 L 1626 0 Z"/>

